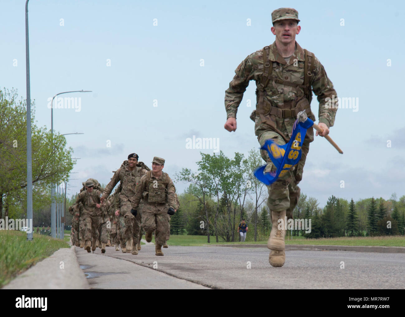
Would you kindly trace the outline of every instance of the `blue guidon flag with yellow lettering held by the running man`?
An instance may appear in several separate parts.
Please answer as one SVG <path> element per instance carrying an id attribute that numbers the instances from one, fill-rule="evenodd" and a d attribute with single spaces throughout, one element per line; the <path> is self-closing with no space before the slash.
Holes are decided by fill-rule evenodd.
<path id="1" fill-rule="evenodd" d="M 313 121 L 307 117 L 305 111 L 302 111 L 297 115 L 290 141 L 287 144 L 278 145 L 272 139 L 266 140 L 260 149 L 266 150 L 269 153 L 271 161 L 277 170 L 275 172 L 263 173 L 264 168 L 266 168 L 266 165 L 263 165 L 254 172 L 256 178 L 266 185 L 270 185 L 279 177 L 286 174 L 292 166 L 298 164 L 301 159 L 301 147 L 305 134 L 307 134 L 307 129 L 312 126 Z M 286 153 L 287 155 L 285 155 Z"/>

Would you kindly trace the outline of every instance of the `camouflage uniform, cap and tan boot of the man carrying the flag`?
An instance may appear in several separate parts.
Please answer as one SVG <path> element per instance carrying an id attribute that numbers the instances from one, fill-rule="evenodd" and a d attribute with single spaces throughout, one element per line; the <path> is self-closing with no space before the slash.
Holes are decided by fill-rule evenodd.
<path id="1" fill-rule="evenodd" d="M 296 20 L 297 23 L 300 21 L 298 12 L 292 8 L 280 8 L 273 11 L 271 15 L 273 26 L 276 21 L 283 19 Z M 279 145 L 288 143 L 298 112 L 305 111 L 308 117 L 315 121 L 310 106 L 312 91 L 318 96 L 319 122 L 324 123 L 328 128 L 335 122 L 337 104 L 330 107 L 330 102 L 327 100 L 336 100 L 337 94 L 324 67 L 315 55 L 302 49 L 296 42 L 291 56 L 283 57 L 279 53 L 276 43 L 281 42 L 279 36 L 287 28 L 292 28 L 292 32 L 299 31 L 296 25 L 277 23 L 273 29 L 276 41 L 247 56 L 235 70 L 236 75 L 225 92 L 227 118 L 236 119 L 238 106 L 249 81 L 256 81 L 256 110 L 250 118 L 255 122 L 255 134 L 260 146 L 264 145 L 268 139 L 273 139 Z M 288 35 L 295 38 L 295 34 Z M 280 267 L 285 262 L 286 230 L 279 230 L 277 221 L 284 219 L 285 216 L 292 218 L 292 212 L 300 195 L 298 183 L 302 179 L 309 143 L 312 141 L 313 129 L 309 128 L 301 147 L 301 160 L 277 181 L 267 186 L 269 191 L 267 204 L 272 218 L 272 230 L 267 247 L 271 250 L 269 262 L 272 266 Z M 261 150 L 260 154 L 267 163 L 264 172 L 275 172 L 276 168 L 267 151 Z"/>

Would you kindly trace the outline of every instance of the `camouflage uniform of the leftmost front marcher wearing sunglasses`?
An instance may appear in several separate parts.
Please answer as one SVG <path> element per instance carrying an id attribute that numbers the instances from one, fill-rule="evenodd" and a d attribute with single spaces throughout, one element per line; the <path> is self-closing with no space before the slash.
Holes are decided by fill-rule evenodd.
<path id="1" fill-rule="evenodd" d="M 100 204 L 100 196 L 101 191 L 93 188 L 91 193 L 84 190 L 76 198 L 76 203 L 81 202 L 83 204 L 81 218 L 84 226 L 85 244 L 86 246 L 90 245 L 90 241 L 93 240 L 92 249 L 95 249 L 98 240 L 98 227 L 100 227 L 101 209 L 96 207 L 96 204 Z"/>

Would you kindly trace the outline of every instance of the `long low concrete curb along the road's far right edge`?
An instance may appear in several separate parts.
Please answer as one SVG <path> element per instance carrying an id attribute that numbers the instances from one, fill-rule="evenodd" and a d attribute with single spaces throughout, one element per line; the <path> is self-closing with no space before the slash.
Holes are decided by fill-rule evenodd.
<path id="1" fill-rule="evenodd" d="M 267 249 L 267 245 L 253 245 L 253 244 L 215 245 L 215 246 Z M 376 253 L 405 253 L 405 247 L 377 247 L 377 246 L 361 246 L 361 245 L 286 245 L 286 250 L 328 250 L 328 251 L 355 251 L 355 252 L 376 252 Z"/>

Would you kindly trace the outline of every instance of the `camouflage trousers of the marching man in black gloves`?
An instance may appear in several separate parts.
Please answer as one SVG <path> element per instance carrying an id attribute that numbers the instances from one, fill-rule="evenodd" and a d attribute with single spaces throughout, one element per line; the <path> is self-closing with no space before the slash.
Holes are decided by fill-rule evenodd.
<path id="1" fill-rule="evenodd" d="M 142 227 L 145 232 L 155 231 L 155 242 L 160 245 L 166 244 L 167 229 L 167 204 L 149 204 L 144 202 L 142 210 Z"/>

